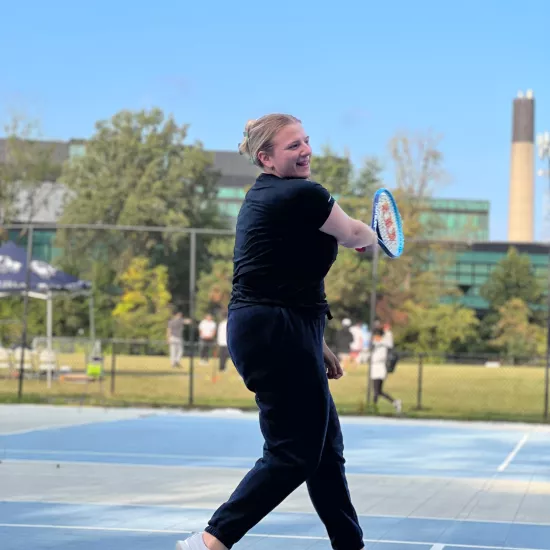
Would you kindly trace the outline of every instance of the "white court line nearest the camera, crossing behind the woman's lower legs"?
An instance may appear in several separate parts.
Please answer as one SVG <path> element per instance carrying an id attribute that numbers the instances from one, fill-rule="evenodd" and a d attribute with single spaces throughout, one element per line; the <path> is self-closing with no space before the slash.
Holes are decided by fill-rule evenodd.
<path id="1" fill-rule="evenodd" d="M 60 530 L 75 530 L 75 531 L 110 531 L 120 533 L 153 533 L 153 534 L 175 534 L 186 535 L 192 533 L 192 531 L 177 530 L 177 529 L 139 529 L 131 527 L 92 527 L 85 525 L 41 525 L 35 523 L 0 523 L 0 527 L 9 528 L 22 528 L 22 529 L 60 529 Z M 245 537 L 253 538 L 265 538 L 265 539 L 286 539 L 286 540 L 329 540 L 328 537 L 314 537 L 311 535 L 275 535 L 275 534 L 261 534 L 261 533 L 249 533 Z M 460 546 L 460 548 L 472 548 L 479 550 L 544 550 L 543 548 L 527 548 L 527 547 L 512 547 L 512 546 L 480 546 L 474 544 L 440 544 L 437 542 L 421 542 L 410 540 L 385 540 L 385 539 L 363 539 L 368 543 L 381 543 L 381 544 L 407 544 L 411 546 L 431 546 L 434 549 L 443 548 L 445 546 Z"/>

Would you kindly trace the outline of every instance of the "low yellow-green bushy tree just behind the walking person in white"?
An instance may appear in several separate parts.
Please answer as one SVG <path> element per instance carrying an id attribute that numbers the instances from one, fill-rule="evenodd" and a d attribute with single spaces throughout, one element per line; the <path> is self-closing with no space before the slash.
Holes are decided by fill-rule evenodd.
<path id="1" fill-rule="evenodd" d="M 409 300 L 404 310 L 407 323 L 399 335 L 402 349 L 445 354 L 476 338 L 479 320 L 471 309 L 457 304 L 425 308 Z"/>

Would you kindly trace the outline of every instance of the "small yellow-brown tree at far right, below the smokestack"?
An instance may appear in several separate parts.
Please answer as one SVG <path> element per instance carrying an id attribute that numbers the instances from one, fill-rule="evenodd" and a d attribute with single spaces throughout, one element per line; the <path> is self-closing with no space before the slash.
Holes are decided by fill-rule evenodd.
<path id="1" fill-rule="evenodd" d="M 545 353 L 545 331 L 529 322 L 529 306 L 521 298 L 511 298 L 498 308 L 499 319 L 493 327 L 491 346 L 512 361 Z"/>

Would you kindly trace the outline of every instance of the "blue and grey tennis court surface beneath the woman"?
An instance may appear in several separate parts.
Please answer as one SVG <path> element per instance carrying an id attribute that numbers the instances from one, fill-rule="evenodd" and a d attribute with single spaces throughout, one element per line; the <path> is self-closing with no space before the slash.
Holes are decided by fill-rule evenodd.
<path id="1" fill-rule="evenodd" d="M 550 428 L 346 418 L 367 549 L 550 550 Z M 173 550 L 262 450 L 255 414 L 0 406 L 0 549 Z M 330 548 L 300 487 L 235 548 Z"/>

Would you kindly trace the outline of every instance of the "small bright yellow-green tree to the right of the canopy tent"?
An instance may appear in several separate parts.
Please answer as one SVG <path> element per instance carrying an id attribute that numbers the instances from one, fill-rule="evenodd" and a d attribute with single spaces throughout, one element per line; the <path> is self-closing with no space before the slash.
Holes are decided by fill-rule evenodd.
<path id="1" fill-rule="evenodd" d="M 113 310 L 117 336 L 164 340 L 172 298 L 166 267 L 151 267 L 148 258 L 133 258 L 120 283 L 123 294 Z"/>

